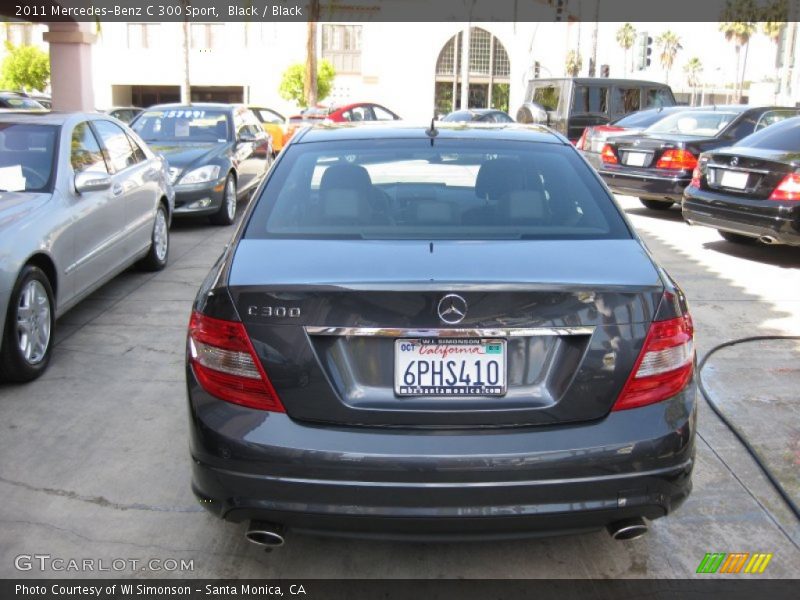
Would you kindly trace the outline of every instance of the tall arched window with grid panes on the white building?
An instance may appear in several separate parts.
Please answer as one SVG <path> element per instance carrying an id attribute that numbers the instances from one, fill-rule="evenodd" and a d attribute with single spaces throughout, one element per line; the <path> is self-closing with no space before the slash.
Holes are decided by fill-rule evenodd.
<path id="1" fill-rule="evenodd" d="M 468 86 L 469 106 L 508 111 L 511 62 L 502 42 L 480 27 L 469 30 L 469 74 L 462 81 L 463 32 L 450 38 L 436 61 L 436 112 L 461 108 L 461 90 Z"/>

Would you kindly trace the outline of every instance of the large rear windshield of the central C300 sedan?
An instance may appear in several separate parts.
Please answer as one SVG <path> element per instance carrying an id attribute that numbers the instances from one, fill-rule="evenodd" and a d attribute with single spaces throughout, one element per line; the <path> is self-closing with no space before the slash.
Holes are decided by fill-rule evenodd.
<path id="1" fill-rule="evenodd" d="M 246 237 L 626 239 L 630 232 L 570 147 L 392 139 L 289 146 Z"/>

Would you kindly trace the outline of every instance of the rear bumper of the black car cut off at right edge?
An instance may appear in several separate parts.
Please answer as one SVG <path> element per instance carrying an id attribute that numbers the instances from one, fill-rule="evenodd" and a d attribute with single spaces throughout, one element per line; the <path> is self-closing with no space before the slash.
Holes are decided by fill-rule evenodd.
<path id="1" fill-rule="evenodd" d="M 683 218 L 691 225 L 704 225 L 751 237 L 769 236 L 778 243 L 800 246 L 800 203 L 731 198 L 694 190 L 683 201 Z"/>

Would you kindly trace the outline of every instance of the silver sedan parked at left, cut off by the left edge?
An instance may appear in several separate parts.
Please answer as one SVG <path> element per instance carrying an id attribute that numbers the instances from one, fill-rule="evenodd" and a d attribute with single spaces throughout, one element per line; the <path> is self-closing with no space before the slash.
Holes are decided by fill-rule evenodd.
<path id="1" fill-rule="evenodd" d="M 0 378 L 42 374 L 57 317 L 131 264 L 163 269 L 166 162 L 105 115 L 0 116 Z"/>

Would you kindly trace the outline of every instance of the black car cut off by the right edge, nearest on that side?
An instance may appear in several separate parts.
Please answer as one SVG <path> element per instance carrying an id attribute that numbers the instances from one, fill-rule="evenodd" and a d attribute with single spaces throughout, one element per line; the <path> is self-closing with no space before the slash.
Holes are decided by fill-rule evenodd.
<path id="1" fill-rule="evenodd" d="M 800 117 L 701 154 L 682 208 L 730 242 L 800 246 Z"/>

